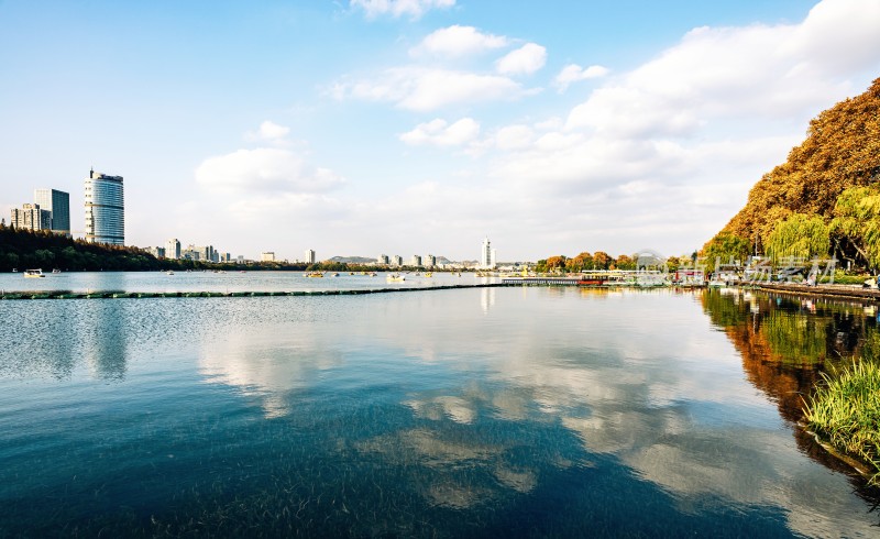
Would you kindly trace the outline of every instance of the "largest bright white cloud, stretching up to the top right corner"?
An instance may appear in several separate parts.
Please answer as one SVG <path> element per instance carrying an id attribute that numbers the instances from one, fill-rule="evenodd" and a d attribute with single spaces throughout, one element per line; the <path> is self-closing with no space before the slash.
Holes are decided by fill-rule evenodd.
<path id="1" fill-rule="evenodd" d="M 846 74 L 880 67 L 880 3 L 826 0 L 800 24 L 698 28 L 603 87 L 569 129 L 679 135 L 714 118 L 815 112 L 850 90 Z"/>

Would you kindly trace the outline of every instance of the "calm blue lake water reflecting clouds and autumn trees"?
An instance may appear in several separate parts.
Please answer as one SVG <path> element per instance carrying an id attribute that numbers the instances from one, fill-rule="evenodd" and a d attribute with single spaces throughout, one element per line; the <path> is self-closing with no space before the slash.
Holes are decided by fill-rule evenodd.
<path id="1" fill-rule="evenodd" d="M 880 350 L 870 307 L 527 287 L 0 320 L 0 537 L 878 536 L 877 492 L 795 425 Z"/>

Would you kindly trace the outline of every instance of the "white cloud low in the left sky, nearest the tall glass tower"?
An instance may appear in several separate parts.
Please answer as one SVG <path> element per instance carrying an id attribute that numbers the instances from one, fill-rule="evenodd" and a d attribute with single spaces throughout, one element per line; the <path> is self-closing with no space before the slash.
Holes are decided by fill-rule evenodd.
<path id="1" fill-rule="evenodd" d="M 202 187 L 245 196 L 322 193 L 344 183 L 333 172 L 314 167 L 299 155 L 274 147 L 208 157 L 195 174 Z"/>

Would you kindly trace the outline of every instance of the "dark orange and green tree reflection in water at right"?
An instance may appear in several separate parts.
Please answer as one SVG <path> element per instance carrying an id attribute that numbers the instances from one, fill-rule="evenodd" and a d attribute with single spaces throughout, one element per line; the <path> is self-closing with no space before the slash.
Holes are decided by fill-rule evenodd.
<path id="1" fill-rule="evenodd" d="M 787 421 L 803 419 L 803 403 L 828 372 L 854 358 L 880 359 L 873 306 L 747 290 L 706 290 L 703 309 L 743 356 L 748 381 L 777 403 Z M 851 477 L 862 498 L 880 505 L 880 488 L 795 427 L 798 447 L 811 459 Z"/>

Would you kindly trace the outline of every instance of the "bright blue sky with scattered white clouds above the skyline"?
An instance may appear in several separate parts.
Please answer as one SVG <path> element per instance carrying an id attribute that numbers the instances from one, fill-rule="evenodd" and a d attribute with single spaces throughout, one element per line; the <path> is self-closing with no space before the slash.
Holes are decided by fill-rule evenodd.
<path id="1" fill-rule="evenodd" d="M 0 0 L 0 212 L 125 178 L 127 243 L 690 253 L 880 76 L 880 2 Z"/>

